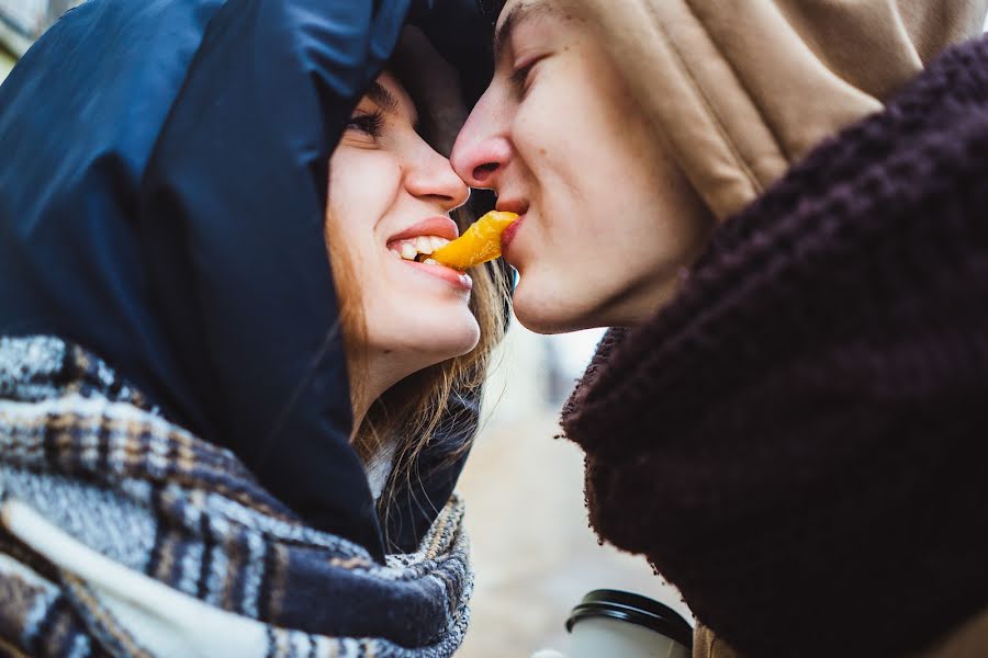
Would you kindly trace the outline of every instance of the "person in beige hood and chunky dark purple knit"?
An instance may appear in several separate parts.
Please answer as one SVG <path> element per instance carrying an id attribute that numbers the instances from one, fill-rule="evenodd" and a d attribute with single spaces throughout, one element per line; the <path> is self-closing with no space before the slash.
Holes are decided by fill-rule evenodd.
<path id="1" fill-rule="evenodd" d="M 988 645 L 988 46 L 940 56 L 984 20 L 504 3 L 451 159 L 523 214 L 523 324 L 627 327 L 563 429 L 594 527 L 680 587 L 696 656 Z"/>

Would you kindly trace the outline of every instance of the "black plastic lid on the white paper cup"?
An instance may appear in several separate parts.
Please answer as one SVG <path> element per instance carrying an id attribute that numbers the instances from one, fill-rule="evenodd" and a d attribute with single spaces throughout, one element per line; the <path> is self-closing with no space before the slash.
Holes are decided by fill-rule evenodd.
<path id="1" fill-rule="evenodd" d="M 566 620 L 566 631 L 586 617 L 609 617 L 644 626 L 693 648 L 693 627 L 675 610 L 647 597 L 619 590 L 594 590 L 583 597 Z"/>

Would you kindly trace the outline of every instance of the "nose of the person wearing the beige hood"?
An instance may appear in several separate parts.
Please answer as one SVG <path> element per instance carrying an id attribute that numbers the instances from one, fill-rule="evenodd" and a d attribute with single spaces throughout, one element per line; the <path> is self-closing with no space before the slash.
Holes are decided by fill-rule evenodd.
<path id="1" fill-rule="evenodd" d="M 489 90 L 478 101 L 453 144 L 449 161 L 471 188 L 496 188 L 501 172 L 512 158 L 512 143 L 503 128 L 502 115 Z"/>

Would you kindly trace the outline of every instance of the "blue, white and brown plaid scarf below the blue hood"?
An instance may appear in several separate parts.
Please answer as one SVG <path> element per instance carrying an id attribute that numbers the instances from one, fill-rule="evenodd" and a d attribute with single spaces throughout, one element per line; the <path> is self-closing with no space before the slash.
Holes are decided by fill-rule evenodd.
<path id="1" fill-rule="evenodd" d="M 473 586 L 453 498 L 377 564 L 102 361 L 0 338 L 0 653 L 450 656 Z"/>

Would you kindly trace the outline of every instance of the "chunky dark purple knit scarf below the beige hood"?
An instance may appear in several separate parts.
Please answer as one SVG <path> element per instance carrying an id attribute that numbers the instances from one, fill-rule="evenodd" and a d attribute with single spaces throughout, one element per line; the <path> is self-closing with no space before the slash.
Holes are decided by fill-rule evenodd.
<path id="1" fill-rule="evenodd" d="M 563 429 L 599 535 L 746 656 L 901 656 L 988 608 L 988 42 L 727 222 Z"/>

